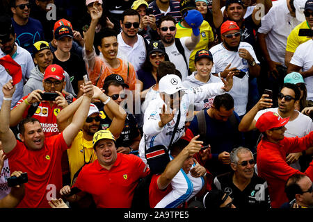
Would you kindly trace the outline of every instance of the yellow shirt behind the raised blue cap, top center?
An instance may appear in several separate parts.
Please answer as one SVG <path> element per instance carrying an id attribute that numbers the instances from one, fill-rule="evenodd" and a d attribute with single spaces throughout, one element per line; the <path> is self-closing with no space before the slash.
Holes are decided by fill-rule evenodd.
<path id="1" fill-rule="evenodd" d="M 192 28 L 185 28 L 182 26 L 180 22 L 176 24 L 177 32 L 175 37 L 181 38 L 186 36 L 191 36 L 193 33 Z M 209 49 L 209 42 L 214 42 L 214 33 L 212 31 L 211 26 L 209 23 L 205 20 L 203 20 L 201 26 L 200 26 L 200 41 L 195 46 L 195 49 L 191 52 L 190 58 L 189 58 L 189 69 L 191 72 L 195 71 L 195 53 L 201 49 Z"/>

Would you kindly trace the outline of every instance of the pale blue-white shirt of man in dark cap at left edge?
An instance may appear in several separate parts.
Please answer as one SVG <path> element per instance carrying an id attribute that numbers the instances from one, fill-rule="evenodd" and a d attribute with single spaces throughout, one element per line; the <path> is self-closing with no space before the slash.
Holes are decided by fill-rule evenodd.
<path id="1" fill-rule="evenodd" d="M 31 58 L 31 53 L 29 53 L 29 51 L 26 51 L 26 49 L 18 46 L 16 43 L 15 45 L 17 46 L 17 50 L 12 58 L 22 68 L 22 80 L 16 85 L 11 103 L 11 109 L 20 99 L 22 99 L 24 84 L 31 75 L 31 70 L 35 67 L 35 65 L 33 64 L 33 58 Z M 3 51 L 1 51 L 0 49 L 0 58 L 2 58 L 3 56 L 6 56 L 6 53 L 3 53 Z M 6 69 L 4 69 L 4 67 L 0 65 L 0 106 L 2 105 L 3 101 L 2 87 L 4 84 L 8 83 L 10 79 L 12 79 L 12 77 L 6 72 Z"/>

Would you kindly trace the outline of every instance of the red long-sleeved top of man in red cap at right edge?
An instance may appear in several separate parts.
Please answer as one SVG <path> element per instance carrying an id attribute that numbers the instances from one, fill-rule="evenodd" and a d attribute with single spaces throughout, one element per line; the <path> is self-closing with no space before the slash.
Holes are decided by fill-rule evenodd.
<path id="1" fill-rule="evenodd" d="M 278 144 L 273 144 L 265 139 L 257 146 L 257 171 L 258 176 L 268 183 L 268 193 L 273 208 L 279 208 L 288 202 L 284 192 L 284 185 L 288 178 L 300 171 L 290 167 L 286 162 L 287 153 L 297 153 L 313 146 L 313 132 L 299 138 L 284 137 Z M 303 174 L 303 173 L 302 173 Z M 313 179 L 313 163 L 307 168 L 305 174 Z"/>

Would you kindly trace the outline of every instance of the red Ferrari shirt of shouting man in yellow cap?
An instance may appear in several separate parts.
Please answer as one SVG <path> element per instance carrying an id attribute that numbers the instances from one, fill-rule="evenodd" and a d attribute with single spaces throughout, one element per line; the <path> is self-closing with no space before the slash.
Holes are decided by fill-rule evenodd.
<path id="1" fill-rule="evenodd" d="M 118 153 L 109 171 L 98 160 L 83 167 L 74 187 L 91 194 L 99 208 L 129 208 L 138 179 L 149 172 L 140 157 Z"/>

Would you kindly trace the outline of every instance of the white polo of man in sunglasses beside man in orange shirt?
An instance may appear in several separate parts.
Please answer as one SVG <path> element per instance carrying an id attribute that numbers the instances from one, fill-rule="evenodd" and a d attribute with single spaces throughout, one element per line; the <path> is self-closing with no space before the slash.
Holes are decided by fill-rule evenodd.
<path id="1" fill-rule="evenodd" d="M 118 58 L 128 61 L 134 66 L 137 72 L 141 69 L 141 65 L 145 62 L 145 57 L 147 56 L 147 51 L 145 49 L 145 41 L 141 35 L 138 35 L 138 40 L 134 44 L 134 47 L 126 44 L 122 38 L 122 33 L 118 34 Z"/>

